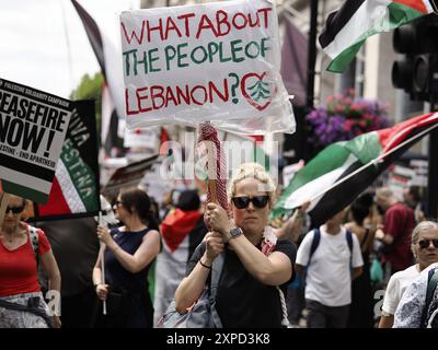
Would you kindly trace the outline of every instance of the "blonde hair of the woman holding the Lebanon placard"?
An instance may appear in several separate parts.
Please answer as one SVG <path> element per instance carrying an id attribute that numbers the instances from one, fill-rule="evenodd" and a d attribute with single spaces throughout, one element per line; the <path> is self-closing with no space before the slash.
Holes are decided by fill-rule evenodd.
<path id="1" fill-rule="evenodd" d="M 243 163 L 239 171 L 231 178 L 228 189 L 228 199 L 235 195 L 235 185 L 245 178 L 255 178 L 262 184 L 261 191 L 265 191 L 269 196 L 269 201 L 273 203 L 276 186 L 269 173 L 258 163 Z"/>

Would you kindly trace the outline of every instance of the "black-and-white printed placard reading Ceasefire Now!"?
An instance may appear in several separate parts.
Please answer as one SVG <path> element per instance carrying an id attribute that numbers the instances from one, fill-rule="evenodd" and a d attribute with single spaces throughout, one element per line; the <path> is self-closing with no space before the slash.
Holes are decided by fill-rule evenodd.
<path id="1" fill-rule="evenodd" d="M 45 202 L 72 112 L 71 102 L 0 79 L 3 190 Z"/>

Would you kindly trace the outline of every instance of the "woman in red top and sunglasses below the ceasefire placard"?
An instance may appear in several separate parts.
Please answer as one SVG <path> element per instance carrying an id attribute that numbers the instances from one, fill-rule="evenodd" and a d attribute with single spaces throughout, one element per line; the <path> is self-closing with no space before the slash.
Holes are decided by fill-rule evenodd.
<path id="1" fill-rule="evenodd" d="M 0 328 L 46 328 L 48 322 L 59 328 L 55 315 L 49 319 L 49 308 L 38 283 L 37 259 L 31 243 L 31 230 L 38 236 L 38 260 L 48 280 L 54 301 L 60 301 L 60 273 L 50 244 L 42 230 L 21 221 L 25 199 L 10 196 L 0 229 Z M 24 307 L 23 307 L 24 306 Z M 58 305 L 59 306 L 59 305 Z M 57 308 L 57 310 L 56 310 Z M 42 316 L 43 315 L 43 316 Z"/>

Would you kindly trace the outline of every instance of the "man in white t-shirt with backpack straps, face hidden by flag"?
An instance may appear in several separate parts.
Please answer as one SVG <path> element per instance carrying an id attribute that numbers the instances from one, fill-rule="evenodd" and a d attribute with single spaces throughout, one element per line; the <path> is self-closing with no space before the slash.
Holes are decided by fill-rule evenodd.
<path id="1" fill-rule="evenodd" d="M 297 273 L 306 276 L 309 328 L 345 328 L 351 279 L 364 266 L 359 242 L 342 225 L 346 210 L 309 232 L 297 254 Z"/>

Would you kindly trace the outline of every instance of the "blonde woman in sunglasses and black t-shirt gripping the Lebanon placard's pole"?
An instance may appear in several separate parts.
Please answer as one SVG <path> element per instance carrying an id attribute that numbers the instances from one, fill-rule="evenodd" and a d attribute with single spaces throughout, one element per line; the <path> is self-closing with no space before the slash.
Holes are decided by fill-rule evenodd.
<path id="1" fill-rule="evenodd" d="M 223 327 L 281 327 L 284 313 L 276 287 L 286 292 L 296 247 L 289 240 L 274 244 L 274 230 L 267 225 L 274 194 L 274 182 L 264 167 L 245 163 L 230 182 L 232 219 L 219 205 L 207 205 L 205 219 L 210 232 L 189 259 L 186 277 L 176 289 L 177 312 L 185 313 L 199 298 L 209 284 L 214 260 L 224 253 L 216 294 Z"/>

